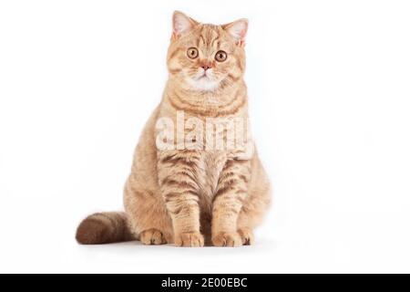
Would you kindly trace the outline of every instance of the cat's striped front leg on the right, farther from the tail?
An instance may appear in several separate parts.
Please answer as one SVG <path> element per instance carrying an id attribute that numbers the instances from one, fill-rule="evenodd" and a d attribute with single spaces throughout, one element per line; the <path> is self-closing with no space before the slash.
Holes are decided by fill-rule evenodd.
<path id="1" fill-rule="evenodd" d="M 238 216 L 248 190 L 251 177 L 250 161 L 226 162 L 212 203 L 212 244 L 216 246 L 240 246 Z"/>

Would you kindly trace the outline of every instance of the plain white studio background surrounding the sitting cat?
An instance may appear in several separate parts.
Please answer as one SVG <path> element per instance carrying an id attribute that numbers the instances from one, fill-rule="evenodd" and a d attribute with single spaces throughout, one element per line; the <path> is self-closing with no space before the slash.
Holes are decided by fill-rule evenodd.
<path id="1" fill-rule="evenodd" d="M 174 9 L 250 19 L 254 246 L 77 245 L 122 208 Z M 2 1 L 0 272 L 410 272 L 408 1 Z"/>

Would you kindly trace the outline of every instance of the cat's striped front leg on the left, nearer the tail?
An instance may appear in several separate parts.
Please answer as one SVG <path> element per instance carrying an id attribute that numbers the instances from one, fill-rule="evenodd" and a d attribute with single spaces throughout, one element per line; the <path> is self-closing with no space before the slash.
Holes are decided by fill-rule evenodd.
<path id="1" fill-rule="evenodd" d="M 177 246 L 204 245 L 200 234 L 199 164 L 200 157 L 194 151 L 159 152 L 159 185 Z"/>

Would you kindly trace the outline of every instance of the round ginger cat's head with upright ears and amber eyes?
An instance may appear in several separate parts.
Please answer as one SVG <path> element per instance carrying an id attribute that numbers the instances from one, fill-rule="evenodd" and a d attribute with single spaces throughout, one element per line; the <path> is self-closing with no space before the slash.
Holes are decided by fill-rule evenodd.
<path id="1" fill-rule="evenodd" d="M 170 76 L 181 86 L 213 91 L 242 78 L 247 19 L 214 26 L 176 11 L 172 26 L 167 63 Z"/>

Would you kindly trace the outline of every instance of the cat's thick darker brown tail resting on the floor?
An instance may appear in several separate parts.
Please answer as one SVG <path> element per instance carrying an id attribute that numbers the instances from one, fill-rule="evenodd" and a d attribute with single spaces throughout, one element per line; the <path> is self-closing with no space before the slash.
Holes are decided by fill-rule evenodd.
<path id="1" fill-rule="evenodd" d="M 102 245 L 133 240 L 127 214 L 105 212 L 89 215 L 77 227 L 76 239 L 80 245 Z"/>

